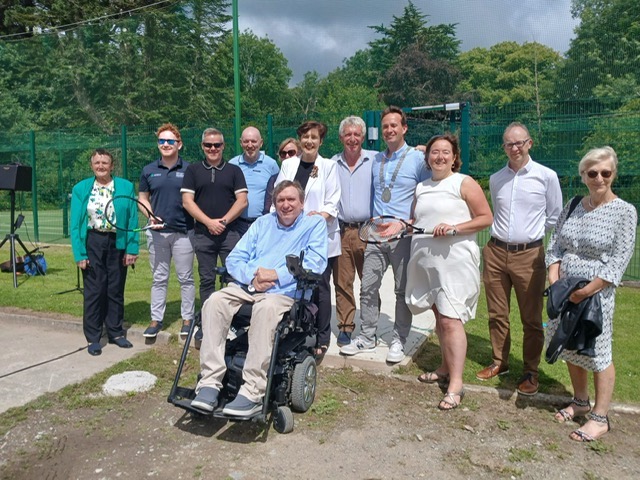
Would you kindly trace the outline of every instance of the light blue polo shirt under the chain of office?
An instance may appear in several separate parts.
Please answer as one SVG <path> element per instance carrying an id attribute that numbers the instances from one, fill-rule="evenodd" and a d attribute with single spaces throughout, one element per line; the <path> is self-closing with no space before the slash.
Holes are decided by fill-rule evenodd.
<path id="1" fill-rule="evenodd" d="M 409 150 L 407 151 L 407 149 Z M 407 155 L 398 171 L 393 187 L 391 187 L 391 178 L 405 151 Z M 381 185 L 380 165 L 383 160 L 384 185 Z M 386 158 L 385 152 L 378 153 L 373 160 L 371 176 L 373 178 L 374 191 L 373 215 L 393 215 L 408 220 L 411 218 L 411 205 L 416 185 L 430 178 L 431 172 L 427 170 L 424 153 L 405 143 L 400 149 L 393 152 L 391 158 Z M 389 187 L 391 190 L 391 200 L 387 203 L 382 201 L 384 187 Z"/>

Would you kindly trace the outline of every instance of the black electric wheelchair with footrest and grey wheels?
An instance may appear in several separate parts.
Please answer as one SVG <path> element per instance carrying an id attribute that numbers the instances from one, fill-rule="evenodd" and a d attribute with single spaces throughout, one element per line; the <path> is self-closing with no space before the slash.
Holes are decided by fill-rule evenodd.
<path id="1" fill-rule="evenodd" d="M 218 397 L 219 403 L 213 412 L 206 412 L 191 406 L 196 397 L 195 387 L 179 386 L 180 376 L 184 368 L 189 345 L 196 327 L 202 322 L 200 313 L 191 327 L 185 340 L 178 370 L 167 401 L 195 415 L 213 416 L 229 420 L 252 420 L 266 423 L 273 416 L 273 425 L 279 433 L 293 430 L 293 411 L 306 412 L 315 398 L 317 365 L 312 349 L 307 346 L 307 339 L 316 334 L 315 319 L 317 306 L 312 303 L 309 292 L 317 289 L 321 275 L 305 270 L 302 267 L 303 253 L 300 256 L 287 255 L 287 268 L 296 279 L 295 301 L 291 310 L 278 323 L 274 335 L 273 350 L 267 371 L 267 388 L 263 398 L 262 410 L 249 417 L 225 415 L 222 410 L 231 402 L 243 383 L 242 369 L 248 350 L 248 334 L 251 320 L 251 304 L 243 305 L 234 316 L 227 336 L 225 347 L 225 363 L 227 371 L 223 379 L 223 387 Z M 218 268 L 218 275 L 225 280 L 224 268 Z M 225 282 L 226 283 L 226 282 Z M 200 377 L 198 377 L 198 380 Z"/>

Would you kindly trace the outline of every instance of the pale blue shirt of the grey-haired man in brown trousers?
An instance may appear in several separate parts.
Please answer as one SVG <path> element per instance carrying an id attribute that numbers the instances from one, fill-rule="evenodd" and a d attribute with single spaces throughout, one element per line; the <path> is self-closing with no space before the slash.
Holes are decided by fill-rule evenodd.
<path id="1" fill-rule="evenodd" d="M 362 150 L 353 171 L 347 165 L 342 153 L 331 158 L 338 164 L 341 191 L 338 218 L 343 222 L 364 222 L 371 218 L 373 208 L 371 166 L 376 153 L 373 150 Z"/>

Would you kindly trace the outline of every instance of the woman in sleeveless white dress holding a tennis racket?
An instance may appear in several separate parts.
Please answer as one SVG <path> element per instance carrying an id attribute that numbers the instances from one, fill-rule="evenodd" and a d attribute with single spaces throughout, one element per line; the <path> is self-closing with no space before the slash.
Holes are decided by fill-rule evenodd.
<path id="1" fill-rule="evenodd" d="M 414 314 L 429 308 L 435 314 L 441 364 L 418 380 L 448 383 L 438 408 L 453 410 L 464 397 L 464 324 L 475 317 L 480 294 L 476 232 L 491 225 L 493 215 L 480 185 L 458 173 L 462 161 L 454 135 L 429 140 L 426 161 L 432 176 L 416 187 L 413 218 L 416 226 L 433 230 L 433 236 L 418 235 L 411 241 L 406 301 Z"/>

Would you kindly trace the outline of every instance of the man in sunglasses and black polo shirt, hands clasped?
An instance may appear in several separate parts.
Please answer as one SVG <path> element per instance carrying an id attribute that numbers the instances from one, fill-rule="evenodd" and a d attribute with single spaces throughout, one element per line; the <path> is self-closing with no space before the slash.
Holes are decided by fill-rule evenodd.
<path id="1" fill-rule="evenodd" d="M 240 240 L 237 218 L 248 205 L 242 170 L 222 158 L 222 132 L 207 128 L 202 133 L 202 151 L 204 160 L 189 165 L 180 190 L 184 208 L 195 220 L 200 304 L 215 290 L 218 257 L 224 265 Z"/>

